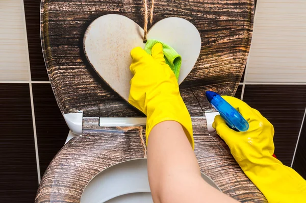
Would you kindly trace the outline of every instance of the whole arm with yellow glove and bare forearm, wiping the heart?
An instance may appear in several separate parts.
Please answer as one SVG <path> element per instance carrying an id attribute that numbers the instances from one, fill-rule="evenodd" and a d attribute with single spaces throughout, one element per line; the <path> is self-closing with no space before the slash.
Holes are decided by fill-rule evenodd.
<path id="1" fill-rule="evenodd" d="M 237 202 L 201 178 L 191 118 L 162 45 L 152 48 L 152 56 L 140 47 L 131 56 L 134 77 L 129 102 L 147 115 L 148 176 L 154 201 Z"/>

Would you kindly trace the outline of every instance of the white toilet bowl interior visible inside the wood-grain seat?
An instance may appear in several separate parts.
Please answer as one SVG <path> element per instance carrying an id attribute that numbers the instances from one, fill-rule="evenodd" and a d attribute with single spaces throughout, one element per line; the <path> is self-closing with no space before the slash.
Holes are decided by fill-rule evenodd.
<path id="1" fill-rule="evenodd" d="M 209 177 L 201 175 L 207 183 L 220 190 Z M 81 203 L 95 202 L 153 202 L 146 159 L 121 162 L 93 177 L 82 193 Z"/>

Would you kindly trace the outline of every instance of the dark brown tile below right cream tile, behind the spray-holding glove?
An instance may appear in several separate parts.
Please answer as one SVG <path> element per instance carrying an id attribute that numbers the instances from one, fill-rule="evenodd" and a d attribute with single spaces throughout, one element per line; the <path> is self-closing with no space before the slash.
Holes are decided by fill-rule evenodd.
<path id="1" fill-rule="evenodd" d="M 305 85 L 246 85 L 244 102 L 274 126 L 275 155 L 290 166 L 305 106 Z"/>

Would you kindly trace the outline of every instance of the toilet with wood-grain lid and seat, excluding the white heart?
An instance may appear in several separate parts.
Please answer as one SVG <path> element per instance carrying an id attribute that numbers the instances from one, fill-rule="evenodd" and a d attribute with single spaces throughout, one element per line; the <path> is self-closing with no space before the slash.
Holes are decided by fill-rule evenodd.
<path id="1" fill-rule="evenodd" d="M 142 1 L 41 3 L 41 41 L 47 72 L 70 129 L 66 143 L 42 176 L 35 202 L 152 202 L 147 180 L 145 117 L 99 77 L 82 39 L 99 16 L 116 13 L 143 23 Z M 202 178 L 242 202 L 267 202 L 212 129 L 217 114 L 206 90 L 234 95 L 251 41 L 254 2 L 155 3 L 154 21 L 189 20 L 200 33 L 199 58 L 180 85 L 192 117 L 195 155 Z M 170 9 L 171 8 L 171 9 Z"/>

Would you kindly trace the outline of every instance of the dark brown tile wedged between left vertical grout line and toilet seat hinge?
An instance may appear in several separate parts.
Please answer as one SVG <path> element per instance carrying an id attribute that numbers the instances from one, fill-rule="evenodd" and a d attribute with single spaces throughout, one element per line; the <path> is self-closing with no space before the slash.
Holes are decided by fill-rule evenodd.
<path id="1" fill-rule="evenodd" d="M 69 129 L 50 84 L 32 84 L 40 174 L 64 146 Z"/>

